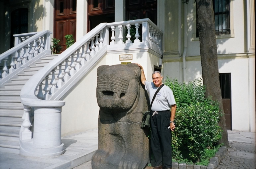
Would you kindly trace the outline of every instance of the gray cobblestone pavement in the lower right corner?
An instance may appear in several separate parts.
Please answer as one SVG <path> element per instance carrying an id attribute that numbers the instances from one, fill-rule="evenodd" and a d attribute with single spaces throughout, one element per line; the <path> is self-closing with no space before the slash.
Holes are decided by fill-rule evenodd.
<path id="1" fill-rule="evenodd" d="M 228 148 L 227 155 L 222 158 L 216 169 L 255 169 L 255 144 L 229 142 L 231 148 Z"/>

